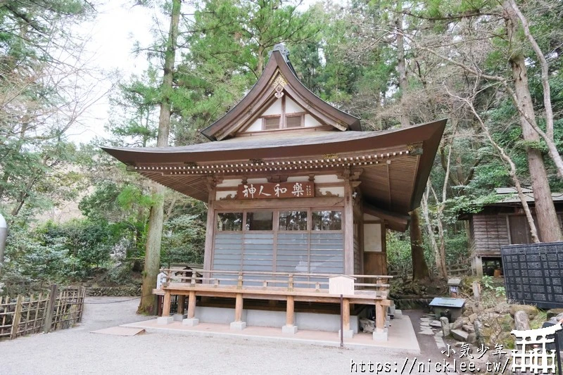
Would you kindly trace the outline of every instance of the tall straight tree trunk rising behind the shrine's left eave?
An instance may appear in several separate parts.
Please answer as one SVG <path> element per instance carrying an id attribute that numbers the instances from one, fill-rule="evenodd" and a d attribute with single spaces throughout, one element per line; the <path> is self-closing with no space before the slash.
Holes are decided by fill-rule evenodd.
<path id="1" fill-rule="evenodd" d="M 168 146 L 170 133 L 170 115 L 172 113 L 170 96 L 172 94 L 172 78 L 174 75 L 174 62 L 176 58 L 176 44 L 178 39 L 178 25 L 180 16 L 180 0 L 172 1 L 172 14 L 170 15 L 170 31 L 166 42 L 164 59 L 163 84 L 160 87 L 162 99 L 160 101 L 160 116 L 158 117 L 158 138 L 156 146 Z M 141 288 L 141 302 L 139 314 L 155 314 L 156 298 L 153 288 L 156 287 L 156 277 L 160 269 L 160 242 L 163 236 L 163 216 L 165 187 L 154 184 L 154 203 L 148 215 L 148 233 L 146 236 L 145 265 L 143 272 L 143 286 Z"/>

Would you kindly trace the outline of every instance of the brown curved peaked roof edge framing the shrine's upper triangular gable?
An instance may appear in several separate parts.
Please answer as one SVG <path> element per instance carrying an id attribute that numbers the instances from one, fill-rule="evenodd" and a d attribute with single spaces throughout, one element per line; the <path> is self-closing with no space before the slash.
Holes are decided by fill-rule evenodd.
<path id="1" fill-rule="evenodd" d="M 251 91 L 227 114 L 201 133 L 212 141 L 232 137 L 250 127 L 267 108 L 284 95 L 291 97 L 322 125 L 330 125 L 341 131 L 361 130 L 357 117 L 334 108 L 303 86 L 284 55 L 274 49 L 264 72 Z"/>

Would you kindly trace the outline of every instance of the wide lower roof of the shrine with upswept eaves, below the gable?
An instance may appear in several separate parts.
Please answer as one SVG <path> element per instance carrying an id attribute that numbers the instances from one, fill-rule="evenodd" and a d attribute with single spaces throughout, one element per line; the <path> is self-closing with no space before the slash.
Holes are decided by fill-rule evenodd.
<path id="1" fill-rule="evenodd" d="M 236 137 L 190 146 L 103 148 L 144 176 L 201 201 L 208 179 L 312 173 L 350 167 L 366 207 L 405 230 L 418 207 L 447 120 L 383 132 Z M 327 173 L 327 172 L 324 172 Z"/>

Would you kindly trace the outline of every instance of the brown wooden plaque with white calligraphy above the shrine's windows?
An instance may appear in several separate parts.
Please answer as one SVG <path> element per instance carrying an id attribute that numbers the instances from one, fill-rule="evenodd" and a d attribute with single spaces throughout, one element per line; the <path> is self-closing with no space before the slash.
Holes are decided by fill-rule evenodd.
<path id="1" fill-rule="evenodd" d="M 237 199 L 312 198 L 313 182 L 279 182 L 269 184 L 241 184 Z"/>

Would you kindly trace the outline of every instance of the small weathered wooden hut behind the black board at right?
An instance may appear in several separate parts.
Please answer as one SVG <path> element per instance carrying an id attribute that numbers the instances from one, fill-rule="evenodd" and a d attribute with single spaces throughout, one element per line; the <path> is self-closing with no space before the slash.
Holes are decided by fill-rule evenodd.
<path id="1" fill-rule="evenodd" d="M 499 188 L 496 193 L 496 203 L 483 206 L 479 213 L 460 216 L 461 220 L 469 221 L 472 270 L 479 276 L 493 276 L 495 269 L 502 270 L 500 246 L 532 242 L 530 226 L 516 189 Z M 533 191 L 524 189 L 524 193 L 535 217 Z M 552 198 L 559 225 L 563 228 L 563 193 L 552 193 Z"/>

